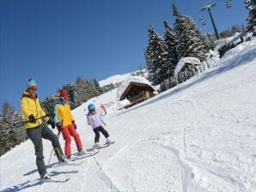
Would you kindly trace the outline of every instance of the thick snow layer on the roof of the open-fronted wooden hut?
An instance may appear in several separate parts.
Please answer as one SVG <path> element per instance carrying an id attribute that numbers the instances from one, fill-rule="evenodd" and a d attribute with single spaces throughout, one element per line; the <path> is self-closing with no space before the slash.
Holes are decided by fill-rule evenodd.
<path id="1" fill-rule="evenodd" d="M 151 84 L 148 80 L 146 80 L 144 77 L 142 76 L 131 76 L 128 79 L 126 79 L 125 81 L 122 81 L 121 84 L 119 85 L 119 89 L 117 92 L 117 98 L 120 99 L 122 94 L 125 92 L 126 88 L 130 85 L 131 82 L 138 82 L 138 83 L 143 83 L 143 84 L 147 84 L 150 87 Z M 154 90 L 155 88 L 152 87 Z"/>

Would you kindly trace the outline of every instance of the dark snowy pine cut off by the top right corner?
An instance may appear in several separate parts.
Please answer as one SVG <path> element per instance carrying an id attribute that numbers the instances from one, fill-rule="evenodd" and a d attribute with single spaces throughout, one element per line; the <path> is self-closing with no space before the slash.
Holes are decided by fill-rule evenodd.
<path id="1" fill-rule="evenodd" d="M 244 0 L 246 8 L 248 9 L 247 15 L 247 32 L 253 32 L 256 36 L 256 0 Z"/>

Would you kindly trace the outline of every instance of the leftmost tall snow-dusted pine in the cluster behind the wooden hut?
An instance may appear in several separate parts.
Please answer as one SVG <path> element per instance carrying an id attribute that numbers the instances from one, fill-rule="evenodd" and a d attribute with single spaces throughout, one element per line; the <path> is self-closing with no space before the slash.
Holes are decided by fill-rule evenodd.
<path id="1" fill-rule="evenodd" d="M 149 27 L 149 45 L 145 52 L 149 81 L 153 85 L 160 84 L 168 78 L 170 60 L 168 59 L 168 46 L 157 33 L 154 27 Z"/>

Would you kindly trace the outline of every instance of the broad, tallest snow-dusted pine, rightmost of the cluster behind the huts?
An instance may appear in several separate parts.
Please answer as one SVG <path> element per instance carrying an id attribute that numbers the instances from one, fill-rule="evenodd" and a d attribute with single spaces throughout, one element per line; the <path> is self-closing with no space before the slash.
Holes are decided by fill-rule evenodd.
<path id="1" fill-rule="evenodd" d="M 198 27 L 191 17 L 180 15 L 175 8 L 174 15 L 176 16 L 174 22 L 174 31 L 178 40 L 177 52 L 179 59 L 182 57 L 197 57 L 200 61 L 205 60 L 205 38 L 200 33 Z"/>

